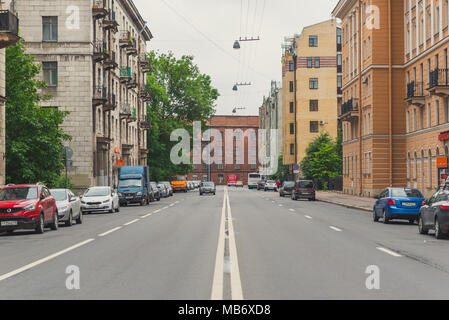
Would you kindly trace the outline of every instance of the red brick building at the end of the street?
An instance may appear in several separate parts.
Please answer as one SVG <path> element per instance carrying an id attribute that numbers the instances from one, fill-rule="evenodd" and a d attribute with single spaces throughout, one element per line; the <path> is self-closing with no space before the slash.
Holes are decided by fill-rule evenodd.
<path id="1" fill-rule="evenodd" d="M 215 182 L 216 185 L 226 185 L 228 182 L 228 177 L 230 175 L 236 175 L 237 180 L 243 181 L 243 184 L 248 184 L 248 174 L 259 171 L 259 159 L 257 157 L 257 152 L 259 149 L 258 145 L 258 129 L 259 129 L 259 117 L 258 116 L 215 116 L 211 119 L 210 123 L 211 129 L 216 129 L 221 132 L 222 139 L 220 144 L 222 146 L 222 164 L 212 164 L 210 167 L 211 181 Z M 242 130 L 243 135 L 236 133 L 233 136 L 226 137 L 226 130 L 234 130 L 238 132 Z M 230 131 L 228 131 L 230 132 Z M 249 136 L 251 132 L 255 139 L 255 146 L 249 142 Z M 227 164 L 226 162 L 226 142 L 230 137 L 233 137 L 233 163 Z M 241 147 L 244 145 L 244 150 Z M 202 143 L 202 148 L 206 148 L 208 142 Z M 237 157 L 241 157 L 241 152 L 244 154 L 244 162 L 241 164 L 237 163 Z M 212 153 L 214 156 L 214 153 Z M 250 161 L 250 159 L 255 159 Z M 207 181 L 209 174 L 209 166 L 204 162 L 200 165 L 193 166 L 193 172 L 188 175 L 188 180 L 201 180 Z"/>

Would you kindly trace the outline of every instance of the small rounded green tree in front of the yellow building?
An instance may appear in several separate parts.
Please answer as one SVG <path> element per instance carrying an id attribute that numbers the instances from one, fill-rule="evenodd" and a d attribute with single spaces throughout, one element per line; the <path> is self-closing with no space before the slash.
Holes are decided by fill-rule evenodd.
<path id="1" fill-rule="evenodd" d="M 338 139 L 337 139 L 338 141 Z M 308 146 L 301 168 L 307 179 L 318 179 L 327 187 L 327 179 L 341 175 L 341 155 L 338 142 L 328 133 L 322 133 Z"/>

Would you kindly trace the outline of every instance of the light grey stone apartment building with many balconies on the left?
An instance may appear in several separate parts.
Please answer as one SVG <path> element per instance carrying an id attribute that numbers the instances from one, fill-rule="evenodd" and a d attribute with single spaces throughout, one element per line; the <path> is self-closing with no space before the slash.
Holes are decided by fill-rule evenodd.
<path id="1" fill-rule="evenodd" d="M 146 165 L 145 73 L 152 34 L 132 0 L 15 0 L 21 36 L 42 64 L 52 98 L 68 111 L 69 169 L 79 188 L 114 185 L 121 165 Z"/>

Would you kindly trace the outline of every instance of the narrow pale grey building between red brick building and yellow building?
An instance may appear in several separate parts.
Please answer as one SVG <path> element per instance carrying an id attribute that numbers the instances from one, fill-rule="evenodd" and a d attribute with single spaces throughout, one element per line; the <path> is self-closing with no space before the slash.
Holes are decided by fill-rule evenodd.
<path id="1" fill-rule="evenodd" d="M 271 81 L 270 92 L 263 97 L 262 106 L 259 108 L 259 129 L 265 130 L 265 143 L 260 144 L 261 152 L 271 161 L 277 163 L 282 156 L 282 88 L 280 83 Z M 275 131 L 276 130 L 276 131 Z M 275 136 L 273 136 L 275 134 Z M 272 144 L 272 141 L 274 143 Z M 271 150 L 275 147 L 276 150 Z M 269 167 L 270 163 L 263 167 Z M 268 172 L 268 171 L 267 171 Z"/>

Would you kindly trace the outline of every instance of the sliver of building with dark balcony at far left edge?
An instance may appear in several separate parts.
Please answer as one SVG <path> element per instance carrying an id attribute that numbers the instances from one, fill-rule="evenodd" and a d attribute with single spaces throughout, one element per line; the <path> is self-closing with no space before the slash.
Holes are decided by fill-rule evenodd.
<path id="1" fill-rule="evenodd" d="M 6 183 L 6 76 L 5 48 L 19 41 L 19 19 L 14 11 L 0 3 L 0 186 Z"/>

